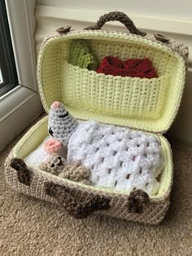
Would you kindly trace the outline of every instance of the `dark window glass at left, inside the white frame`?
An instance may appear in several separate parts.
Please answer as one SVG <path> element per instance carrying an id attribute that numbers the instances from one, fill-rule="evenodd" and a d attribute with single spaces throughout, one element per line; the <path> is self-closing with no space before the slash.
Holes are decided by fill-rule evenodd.
<path id="1" fill-rule="evenodd" d="M 0 1 L 0 97 L 18 85 L 11 35 L 4 1 Z"/>

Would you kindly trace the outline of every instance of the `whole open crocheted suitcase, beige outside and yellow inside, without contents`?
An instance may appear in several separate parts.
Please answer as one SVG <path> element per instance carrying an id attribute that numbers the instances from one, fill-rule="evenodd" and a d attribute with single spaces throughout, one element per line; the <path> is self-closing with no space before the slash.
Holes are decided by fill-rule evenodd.
<path id="1" fill-rule="evenodd" d="M 102 30 L 107 21 L 118 20 L 129 32 Z M 74 39 L 89 42 L 98 61 L 107 55 L 121 60 L 149 58 L 159 77 L 120 77 L 69 64 Z M 161 142 L 165 166 L 159 192 L 115 191 L 77 183 L 26 165 L 28 156 L 48 135 L 48 117 L 33 126 L 11 150 L 5 162 L 7 183 L 24 194 L 60 205 L 76 218 L 106 214 L 116 218 L 157 224 L 169 206 L 172 187 L 172 151 L 164 132 L 171 126 L 181 103 L 185 84 L 188 48 L 160 34 L 146 34 L 122 12 L 103 15 L 97 24 L 81 31 L 57 29 L 41 44 L 37 81 L 41 102 L 48 114 L 59 100 L 79 120 L 94 118 L 101 123 L 144 130 Z M 16 161 L 15 161 L 16 159 Z"/>

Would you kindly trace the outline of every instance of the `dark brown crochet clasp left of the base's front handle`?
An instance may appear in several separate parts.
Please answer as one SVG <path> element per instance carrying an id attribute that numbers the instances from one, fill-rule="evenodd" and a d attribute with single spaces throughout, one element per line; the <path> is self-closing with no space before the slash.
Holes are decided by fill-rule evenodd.
<path id="1" fill-rule="evenodd" d="M 20 183 L 24 183 L 27 186 L 30 186 L 33 179 L 32 170 L 28 170 L 28 167 L 24 163 L 24 160 L 20 158 L 11 159 L 11 167 L 17 171 L 17 177 Z"/>

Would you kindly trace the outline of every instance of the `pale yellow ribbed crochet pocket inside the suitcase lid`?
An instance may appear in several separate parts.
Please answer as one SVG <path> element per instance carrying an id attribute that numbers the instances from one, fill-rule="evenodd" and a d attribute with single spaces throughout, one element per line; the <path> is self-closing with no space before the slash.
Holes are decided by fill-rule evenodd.
<path id="1" fill-rule="evenodd" d="M 97 116 L 157 119 L 167 86 L 168 74 L 152 79 L 114 77 L 63 62 L 63 102 Z"/>

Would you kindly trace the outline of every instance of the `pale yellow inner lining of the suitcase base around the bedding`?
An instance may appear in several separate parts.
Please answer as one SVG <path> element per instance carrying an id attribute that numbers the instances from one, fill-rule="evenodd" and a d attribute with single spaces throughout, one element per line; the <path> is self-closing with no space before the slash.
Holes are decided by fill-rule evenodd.
<path id="1" fill-rule="evenodd" d="M 28 132 L 20 139 L 19 143 L 15 145 L 13 148 L 13 157 L 26 157 L 29 152 L 32 152 L 35 148 L 39 146 L 43 139 L 47 136 L 47 121 L 48 117 L 44 117 L 41 121 L 38 121 L 35 126 L 33 126 Z M 163 201 L 164 197 L 168 195 L 170 192 L 170 183 L 172 180 L 172 153 L 168 144 L 167 139 L 164 138 L 163 135 L 156 135 L 156 137 L 160 140 L 162 145 L 162 152 L 164 156 L 164 161 L 166 162 L 166 166 L 161 174 L 160 187 L 159 192 L 155 196 L 151 196 L 151 199 L 155 201 Z M 36 170 L 37 172 L 45 172 L 41 170 Z M 62 182 L 63 179 L 54 176 L 52 174 L 46 173 L 46 176 L 51 176 L 52 179 L 55 179 L 56 183 Z M 72 181 L 68 180 L 68 183 L 72 183 Z M 79 187 L 85 187 L 83 183 L 78 183 Z M 91 187 L 93 191 L 103 191 L 114 194 L 119 194 L 119 192 L 114 191 L 112 188 L 101 188 L 101 187 Z M 120 192 L 120 194 L 129 194 L 128 192 Z"/>

